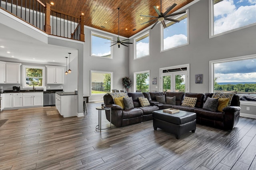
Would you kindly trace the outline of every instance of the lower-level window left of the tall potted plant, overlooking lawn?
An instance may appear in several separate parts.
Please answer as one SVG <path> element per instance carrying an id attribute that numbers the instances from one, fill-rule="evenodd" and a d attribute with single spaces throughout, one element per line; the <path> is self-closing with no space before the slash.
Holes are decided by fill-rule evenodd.
<path id="1" fill-rule="evenodd" d="M 110 93 L 112 72 L 91 71 L 91 95 Z"/>

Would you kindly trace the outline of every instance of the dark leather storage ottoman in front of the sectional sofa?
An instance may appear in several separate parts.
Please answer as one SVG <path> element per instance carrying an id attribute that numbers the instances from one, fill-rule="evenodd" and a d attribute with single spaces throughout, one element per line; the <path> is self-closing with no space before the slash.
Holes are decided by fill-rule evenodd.
<path id="1" fill-rule="evenodd" d="M 196 113 L 180 111 L 178 113 L 164 113 L 163 110 L 153 112 L 154 130 L 161 128 L 167 132 L 175 134 L 179 139 L 180 135 L 196 131 Z"/>

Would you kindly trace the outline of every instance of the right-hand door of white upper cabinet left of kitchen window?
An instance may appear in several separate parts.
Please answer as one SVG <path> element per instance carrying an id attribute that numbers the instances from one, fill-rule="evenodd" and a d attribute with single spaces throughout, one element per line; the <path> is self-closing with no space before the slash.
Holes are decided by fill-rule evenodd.
<path id="1" fill-rule="evenodd" d="M 20 83 L 21 63 L 6 63 L 6 83 Z"/>

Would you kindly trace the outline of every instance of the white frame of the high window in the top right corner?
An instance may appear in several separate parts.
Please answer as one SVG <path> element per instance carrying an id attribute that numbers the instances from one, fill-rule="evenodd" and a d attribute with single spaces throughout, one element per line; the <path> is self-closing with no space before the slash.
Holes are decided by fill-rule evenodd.
<path id="1" fill-rule="evenodd" d="M 222 33 L 214 35 L 214 14 L 213 14 L 214 13 L 214 4 L 213 4 L 213 1 L 214 0 L 209 0 L 209 38 L 222 36 L 222 35 L 228 34 L 230 32 L 242 30 L 244 28 L 248 28 L 248 27 L 256 25 L 256 22 L 255 22 L 255 23 L 252 23 L 252 24 L 249 24 L 249 25 L 246 25 L 246 26 L 242 26 L 242 27 L 239 27 L 239 28 L 235 28 L 235 29 L 228 30 L 226 32 L 222 32 Z"/>

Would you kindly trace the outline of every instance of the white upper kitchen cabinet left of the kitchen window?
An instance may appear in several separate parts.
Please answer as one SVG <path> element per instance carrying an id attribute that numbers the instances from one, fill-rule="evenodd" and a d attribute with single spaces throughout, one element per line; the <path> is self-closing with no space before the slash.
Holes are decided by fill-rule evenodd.
<path id="1" fill-rule="evenodd" d="M 19 84 L 21 63 L 0 61 L 0 83 Z"/>

